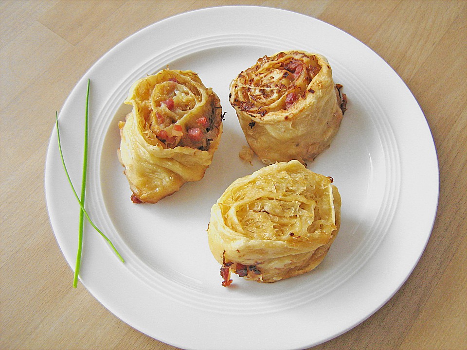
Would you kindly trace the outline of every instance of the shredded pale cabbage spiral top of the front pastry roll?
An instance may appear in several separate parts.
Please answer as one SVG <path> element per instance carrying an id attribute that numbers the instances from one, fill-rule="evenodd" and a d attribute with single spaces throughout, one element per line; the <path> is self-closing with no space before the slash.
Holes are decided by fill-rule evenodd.
<path id="1" fill-rule="evenodd" d="M 336 227 L 331 180 L 315 186 L 311 175 L 269 174 L 236 188 L 221 205 L 225 224 L 261 240 L 306 240 Z M 277 178 L 281 182 L 275 183 Z"/>

